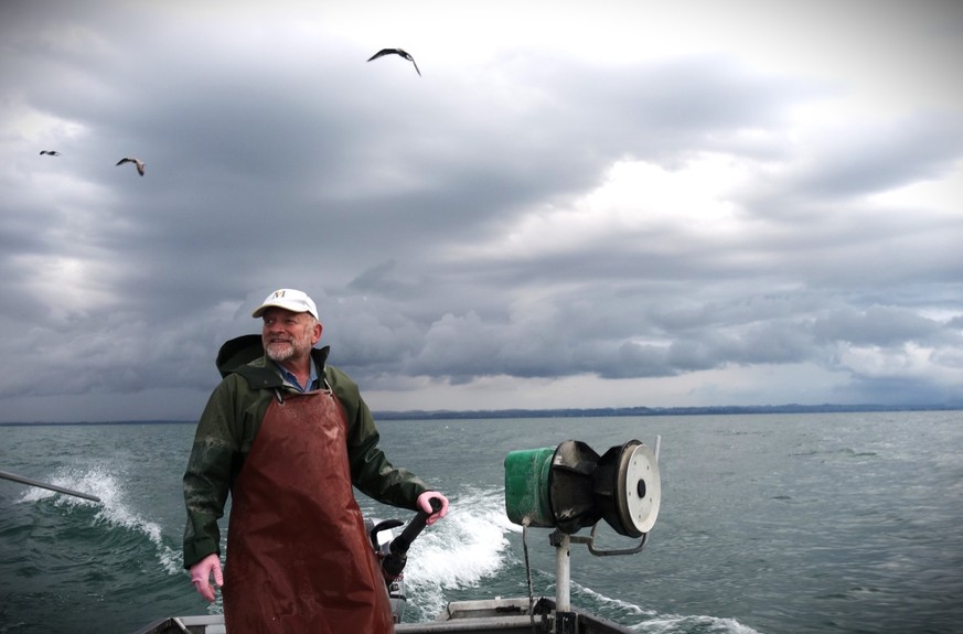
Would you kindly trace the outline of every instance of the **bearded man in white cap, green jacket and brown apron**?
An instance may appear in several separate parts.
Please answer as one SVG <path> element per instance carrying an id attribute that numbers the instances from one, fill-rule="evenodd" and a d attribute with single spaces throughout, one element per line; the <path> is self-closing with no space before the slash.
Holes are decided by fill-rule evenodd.
<path id="1" fill-rule="evenodd" d="M 272 292 L 252 316 L 260 337 L 222 346 L 224 379 L 197 423 L 184 473 L 184 567 L 207 601 L 223 585 L 228 632 L 394 631 L 384 579 L 352 485 L 385 504 L 422 509 L 448 499 L 378 449 L 357 386 L 314 348 L 310 297 Z M 217 519 L 232 496 L 226 574 Z M 441 507 L 435 512 L 431 501 Z"/>

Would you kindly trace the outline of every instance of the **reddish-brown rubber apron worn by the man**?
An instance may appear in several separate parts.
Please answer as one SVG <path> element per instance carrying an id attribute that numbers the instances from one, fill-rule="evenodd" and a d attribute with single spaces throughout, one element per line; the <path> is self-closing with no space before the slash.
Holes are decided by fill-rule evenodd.
<path id="1" fill-rule="evenodd" d="M 394 632 L 352 491 L 345 429 L 330 391 L 286 395 L 268 406 L 232 488 L 228 632 Z"/>

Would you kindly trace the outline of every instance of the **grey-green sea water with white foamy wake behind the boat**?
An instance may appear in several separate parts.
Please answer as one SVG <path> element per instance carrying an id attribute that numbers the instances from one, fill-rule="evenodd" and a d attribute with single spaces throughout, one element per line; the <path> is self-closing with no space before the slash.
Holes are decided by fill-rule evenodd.
<path id="1" fill-rule="evenodd" d="M 405 621 L 555 594 L 548 529 L 509 522 L 510 451 L 660 442 L 642 552 L 571 549 L 571 602 L 639 632 L 963 632 L 963 412 L 383 421 L 390 460 L 451 499 L 413 545 Z M 129 633 L 216 613 L 181 567 L 193 425 L 0 427 L 0 633 Z M 363 496 L 366 514 L 410 513 Z M 226 523 L 225 523 L 226 524 Z M 588 531 L 582 531 L 587 535 Z M 632 540 L 602 526 L 598 547 Z M 527 557 L 526 557 L 527 556 Z M 526 569 L 525 561 L 528 561 Z"/>

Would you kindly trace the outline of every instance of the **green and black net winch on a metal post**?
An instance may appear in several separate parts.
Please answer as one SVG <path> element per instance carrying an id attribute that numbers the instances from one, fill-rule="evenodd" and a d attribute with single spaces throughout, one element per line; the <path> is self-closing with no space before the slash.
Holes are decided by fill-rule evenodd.
<path id="1" fill-rule="evenodd" d="M 585 544 L 599 557 L 634 555 L 645 547 L 662 499 L 660 440 L 656 437 L 654 450 L 630 440 L 601 455 L 585 442 L 566 440 L 554 448 L 512 451 L 505 458 L 505 512 L 512 523 L 523 527 L 529 603 L 527 529 L 555 529 L 549 544 L 555 547 L 556 632 L 576 631 L 570 600 L 571 544 Z M 619 535 L 641 540 L 628 548 L 597 548 L 601 520 Z M 589 526 L 589 537 L 575 535 Z"/>

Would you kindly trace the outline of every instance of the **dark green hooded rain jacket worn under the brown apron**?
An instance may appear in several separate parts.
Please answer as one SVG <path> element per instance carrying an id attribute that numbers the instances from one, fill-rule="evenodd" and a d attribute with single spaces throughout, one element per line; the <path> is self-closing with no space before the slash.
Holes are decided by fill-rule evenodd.
<path id="1" fill-rule="evenodd" d="M 328 347 L 314 348 L 311 356 L 323 368 L 319 377 L 327 380 L 344 409 L 352 483 L 373 499 L 417 511 L 418 496 L 428 487 L 409 471 L 393 466 L 378 449 L 378 431 L 357 385 L 325 365 L 328 352 Z M 217 355 L 217 369 L 224 379 L 201 415 L 184 473 L 184 568 L 221 552 L 217 520 L 224 515 L 234 479 L 244 466 L 270 400 L 283 399 L 293 390 L 264 356 L 259 335 L 225 343 Z"/>

